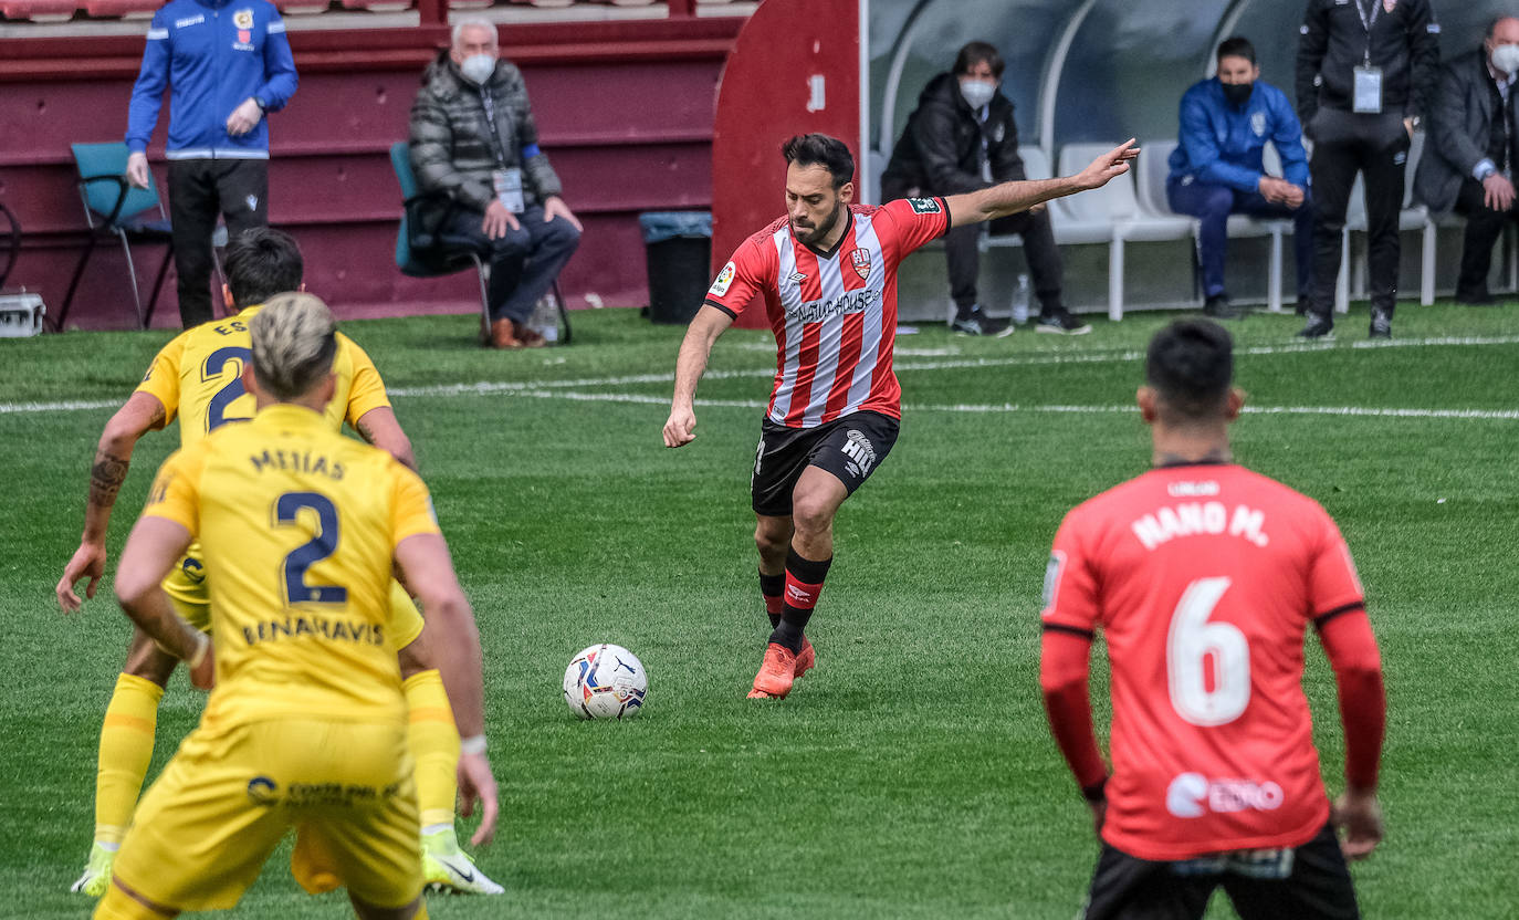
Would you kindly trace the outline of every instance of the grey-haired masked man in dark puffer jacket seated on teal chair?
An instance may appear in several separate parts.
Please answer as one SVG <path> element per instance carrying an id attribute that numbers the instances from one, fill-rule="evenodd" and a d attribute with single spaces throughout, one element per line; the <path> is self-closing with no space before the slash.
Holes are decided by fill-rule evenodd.
<path id="1" fill-rule="evenodd" d="M 424 193 L 444 193 L 422 203 L 418 225 L 491 264 L 488 345 L 545 345 L 527 317 L 580 244 L 580 222 L 538 147 L 523 74 L 500 59 L 489 20 L 454 24 L 453 46 L 422 74 L 412 169 Z"/>

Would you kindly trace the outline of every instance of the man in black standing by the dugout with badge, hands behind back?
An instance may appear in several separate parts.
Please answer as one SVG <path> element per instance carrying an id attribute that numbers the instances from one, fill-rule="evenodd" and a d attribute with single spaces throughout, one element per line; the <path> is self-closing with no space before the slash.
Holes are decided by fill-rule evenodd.
<path id="1" fill-rule="evenodd" d="M 1297 43 L 1297 114 L 1314 141 L 1314 298 L 1303 339 L 1334 329 L 1340 241 L 1366 175 L 1372 339 L 1393 337 L 1397 213 L 1414 129 L 1434 97 L 1440 26 L 1429 0 L 1308 0 Z"/>

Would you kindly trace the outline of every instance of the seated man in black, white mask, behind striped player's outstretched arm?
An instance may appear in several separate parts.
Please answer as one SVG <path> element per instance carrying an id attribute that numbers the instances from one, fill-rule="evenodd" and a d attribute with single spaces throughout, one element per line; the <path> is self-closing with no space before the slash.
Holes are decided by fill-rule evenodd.
<path id="1" fill-rule="evenodd" d="M 883 200 L 966 194 L 996 182 L 1028 178 L 1018 155 L 1013 103 L 998 93 L 1003 67 L 995 47 L 972 41 L 960 49 L 954 70 L 928 82 L 881 175 Z M 1050 214 L 1034 208 L 993 222 L 990 231 L 1022 237 L 1024 257 L 1041 304 L 1034 328 L 1068 336 L 1091 332 L 1092 326 L 1071 316 L 1060 301 L 1060 250 L 1054 244 Z M 969 225 L 945 235 L 949 296 L 955 304 L 955 317 L 949 325 L 971 336 L 1007 329 L 977 304 L 980 238 L 981 228 Z"/>

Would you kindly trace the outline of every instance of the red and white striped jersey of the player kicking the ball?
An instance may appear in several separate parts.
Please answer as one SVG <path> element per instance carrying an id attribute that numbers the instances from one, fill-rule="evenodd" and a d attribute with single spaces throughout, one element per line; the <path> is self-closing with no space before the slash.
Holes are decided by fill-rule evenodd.
<path id="1" fill-rule="evenodd" d="M 892 372 L 896 267 L 948 229 L 945 200 L 917 197 L 851 205 L 832 252 L 801 243 L 785 217 L 744 240 L 706 304 L 738 317 L 764 296 L 776 343 L 772 422 L 816 428 L 860 410 L 902 417 Z"/>

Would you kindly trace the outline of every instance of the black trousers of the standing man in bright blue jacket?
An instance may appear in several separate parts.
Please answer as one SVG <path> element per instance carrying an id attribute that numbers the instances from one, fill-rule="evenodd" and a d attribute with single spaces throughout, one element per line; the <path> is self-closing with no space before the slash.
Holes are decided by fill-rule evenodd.
<path id="1" fill-rule="evenodd" d="M 169 161 L 179 322 L 187 329 L 211 319 L 211 234 L 217 214 L 226 219 L 228 240 L 269 226 L 267 159 Z"/>

